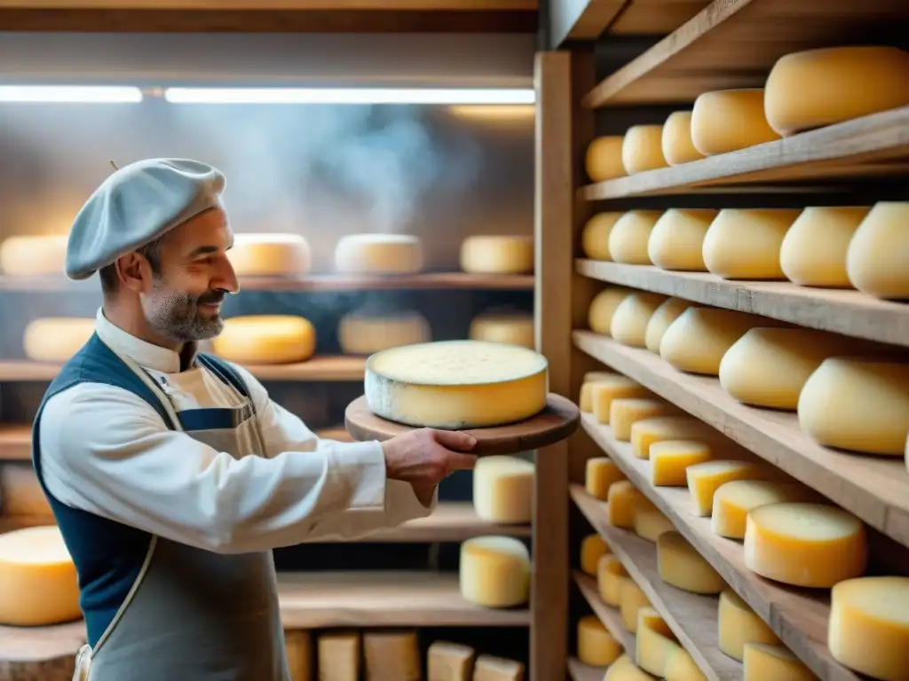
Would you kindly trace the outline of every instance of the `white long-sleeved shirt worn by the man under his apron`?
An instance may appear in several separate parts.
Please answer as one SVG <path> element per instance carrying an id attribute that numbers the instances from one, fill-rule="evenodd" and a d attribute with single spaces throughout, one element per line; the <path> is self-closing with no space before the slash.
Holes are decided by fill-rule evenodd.
<path id="1" fill-rule="evenodd" d="M 141 341 L 98 311 L 95 331 L 165 389 L 175 410 L 235 407 L 235 391 L 173 350 Z M 219 553 L 349 538 L 429 515 L 410 483 L 385 478 L 378 442 L 318 439 L 235 367 L 255 404 L 261 456 L 235 459 L 170 430 L 128 390 L 80 383 L 47 400 L 42 472 L 62 503 Z M 164 380 L 162 380 L 164 379 Z M 301 387 L 305 390 L 305 386 Z"/>

